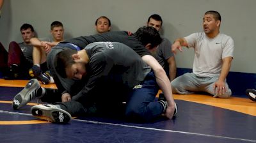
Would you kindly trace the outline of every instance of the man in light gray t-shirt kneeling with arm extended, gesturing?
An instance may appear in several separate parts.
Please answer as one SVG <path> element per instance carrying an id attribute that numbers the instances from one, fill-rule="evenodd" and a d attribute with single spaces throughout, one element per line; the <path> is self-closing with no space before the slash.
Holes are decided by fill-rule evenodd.
<path id="1" fill-rule="evenodd" d="M 172 51 L 182 46 L 195 49 L 193 73 L 185 73 L 171 83 L 176 94 L 205 92 L 213 97 L 228 98 L 231 89 L 226 77 L 234 56 L 234 41 L 220 33 L 221 16 L 217 11 L 207 11 L 203 18 L 204 32 L 193 33 L 175 40 Z"/>

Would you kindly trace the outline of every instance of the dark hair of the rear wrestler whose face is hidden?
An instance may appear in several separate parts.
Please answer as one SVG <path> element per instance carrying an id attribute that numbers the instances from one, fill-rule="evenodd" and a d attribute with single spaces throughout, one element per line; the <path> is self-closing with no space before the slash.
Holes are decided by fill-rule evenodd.
<path id="1" fill-rule="evenodd" d="M 151 26 L 143 26 L 140 27 L 136 33 L 134 33 L 134 36 L 138 38 L 141 43 L 146 46 L 148 43 L 151 44 L 151 49 L 156 47 L 162 42 L 162 38 L 158 31 Z"/>

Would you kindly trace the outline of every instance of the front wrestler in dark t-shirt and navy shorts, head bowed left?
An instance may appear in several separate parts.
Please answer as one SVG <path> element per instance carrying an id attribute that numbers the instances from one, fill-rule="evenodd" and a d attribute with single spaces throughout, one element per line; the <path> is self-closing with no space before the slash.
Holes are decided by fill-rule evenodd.
<path id="1" fill-rule="evenodd" d="M 54 63 L 61 77 L 77 80 L 83 90 L 69 102 L 32 107 L 35 117 L 68 123 L 70 115 L 90 114 L 93 105 L 100 111 L 114 105 L 118 109 L 122 102 L 126 102 L 125 117 L 132 121 L 152 121 L 166 110 L 167 102 L 154 101 L 159 90 L 154 72 L 122 43 L 96 42 L 78 52 L 63 50 Z M 173 116 L 176 113 L 175 105 Z"/>

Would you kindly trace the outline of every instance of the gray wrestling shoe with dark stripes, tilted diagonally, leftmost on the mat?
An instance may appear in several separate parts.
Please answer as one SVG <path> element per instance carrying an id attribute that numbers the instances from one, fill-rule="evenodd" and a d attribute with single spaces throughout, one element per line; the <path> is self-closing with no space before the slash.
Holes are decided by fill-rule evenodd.
<path id="1" fill-rule="evenodd" d="M 19 110 L 21 107 L 24 107 L 28 102 L 33 100 L 36 97 L 36 94 L 42 94 L 45 92 L 44 89 L 40 88 L 38 80 L 31 79 L 28 84 L 20 91 L 14 98 L 12 102 L 12 107 L 15 110 Z M 38 90 L 40 89 L 40 90 Z M 37 95 L 39 96 L 39 95 Z"/>

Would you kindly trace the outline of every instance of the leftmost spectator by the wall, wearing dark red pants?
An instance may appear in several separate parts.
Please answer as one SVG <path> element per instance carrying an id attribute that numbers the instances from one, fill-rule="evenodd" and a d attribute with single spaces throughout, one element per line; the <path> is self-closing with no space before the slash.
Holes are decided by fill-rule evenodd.
<path id="1" fill-rule="evenodd" d="M 35 36 L 34 28 L 30 24 L 23 24 L 20 33 L 23 42 L 10 42 L 8 52 L 0 43 L 0 67 L 4 79 L 28 78 L 28 70 L 33 66 L 33 45 L 29 40 Z"/>

